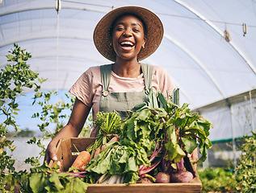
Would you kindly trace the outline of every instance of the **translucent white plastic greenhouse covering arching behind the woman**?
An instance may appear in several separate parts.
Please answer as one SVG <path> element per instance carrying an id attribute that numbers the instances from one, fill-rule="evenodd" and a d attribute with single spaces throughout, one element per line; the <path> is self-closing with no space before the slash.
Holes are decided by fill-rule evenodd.
<path id="1" fill-rule="evenodd" d="M 0 68 L 14 43 L 31 53 L 43 90 L 68 92 L 91 66 L 109 64 L 93 43 L 99 19 L 120 6 L 153 10 L 164 24 L 161 46 L 142 61 L 166 68 L 180 103 L 213 121 L 212 142 L 242 137 L 256 125 L 255 0 L 2 0 Z M 57 12 L 57 2 L 60 2 Z M 29 95 L 29 93 L 27 93 Z M 26 121 L 35 109 L 23 102 Z M 1 117 L 0 117 L 1 119 Z M 20 118 L 24 120 L 23 118 Z"/>

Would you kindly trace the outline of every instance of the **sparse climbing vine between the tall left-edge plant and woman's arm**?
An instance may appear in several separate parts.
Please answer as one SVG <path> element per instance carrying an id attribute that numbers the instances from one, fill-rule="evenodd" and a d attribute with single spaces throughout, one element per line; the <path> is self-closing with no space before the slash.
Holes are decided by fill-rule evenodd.
<path id="1" fill-rule="evenodd" d="M 69 118 L 69 114 L 72 111 L 74 97 L 71 94 L 65 94 L 66 100 L 59 100 L 56 103 L 52 102 L 52 98 L 57 98 L 57 92 L 47 91 L 47 92 L 36 92 L 34 97 L 33 104 L 35 105 L 37 101 L 37 105 L 40 106 L 41 111 L 34 113 L 32 118 L 37 118 L 40 120 L 40 124 L 38 124 L 38 128 L 43 133 L 42 140 L 52 139 L 57 133 L 63 128 L 66 124 L 67 118 Z M 65 102 L 67 101 L 67 102 Z M 67 113 L 68 111 L 68 113 Z M 91 117 L 90 117 L 91 120 Z M 55 126 L 55 129 L 52 130 L 50 127 Z M 85 124 L 82 129 L 82 137 L 88 137 L 90 132 L 90 125 Z M 41 139 L 31 138 L 27 143 L 28 144 L 36 144 L 41 148 L 41 152 L 39 156 L 27 158 L 25 160 L 26 163 L 30 163 L 31 166 L 40 166 L 40 158 L 44 156 L 46 147 L 44 146 Z"/>

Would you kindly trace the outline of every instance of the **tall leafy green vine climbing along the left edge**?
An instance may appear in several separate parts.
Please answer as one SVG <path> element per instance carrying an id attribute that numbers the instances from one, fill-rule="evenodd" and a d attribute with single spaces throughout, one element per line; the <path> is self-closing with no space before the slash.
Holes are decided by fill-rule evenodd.
<path id="1" fill-rule="evenodd" d="M 19 112 L 19 104 L 16 102 L 18 96 L 23 95 L 25 89 L 28 91 L 38 91 L 40 84 L 44 79 L 38 78 L 38 73 L 30 70 L 27 60 L 31 54 L 22 50 L 18 44 L 14 44 L 15 49 L 9 51 L 6 55 L 8 64 L 0 72 L 0 192 L 6 191 L 6 184 L 10 182 L 10 191 L 15 185 L 15 178 L 19 179 L 19 172 L 15 172 L 15 159 L 7 154 L 6 149 L 10 152 L 15 150 L 13 141 L 6 138 L 8 129 L 14 128 L 19 132 L 19 125 L 15 122 L 15 116 Z M 36 83 L 36 80 L 39 84 Z"/>

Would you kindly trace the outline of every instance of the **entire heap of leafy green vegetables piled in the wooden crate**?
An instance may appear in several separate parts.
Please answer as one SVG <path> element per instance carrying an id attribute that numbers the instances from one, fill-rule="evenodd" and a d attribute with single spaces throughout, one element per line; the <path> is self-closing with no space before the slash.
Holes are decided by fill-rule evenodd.
<path id="1" fill-rule="evenodd" d="M 153 178 L 149 175 L 151 171 L 179 169 L 183 158 L 197 147 L 201 153 L 198 162 L 204 162 L 206 150 L 212 146 L 208 139 L 212 122 L 192 114 L 187 104 L 180 108 L 166 101 L 160 92 L 149 90 L 149 95 L 149 101 L 138 105 L 141 109 L 129 113 L 122 122 L 116 113 L 97 114 L 94 126 L 99 130 L 98 139 L 87 150 L 94 154 L 103 144 L 105 148 L 87 164 L 85 175 L 76 178 L 75 173 L 49 170 L 44 165 L 31 170 L 27 191 L 85 192 L 87 183 L 103 179 L 137 183 L 143 177 Z M 119 142 L 109 142 L 114 135 L 120 137 Z"/>

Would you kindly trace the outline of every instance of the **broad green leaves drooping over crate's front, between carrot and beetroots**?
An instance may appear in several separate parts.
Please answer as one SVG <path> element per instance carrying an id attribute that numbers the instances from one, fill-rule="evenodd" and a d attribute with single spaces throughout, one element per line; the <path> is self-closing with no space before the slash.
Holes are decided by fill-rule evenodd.
<path id="1" fill-rule="evenodd" d="M 107 143 L 96 158 L 90 160 L 86 171 L 96 176 L 94 183 L 101 175 L 124 175 L 124 183 L 136 183 L 139 179 L 138 166 L 149 165 L 145 150 L 122 146 L 120 142 Z"/>

